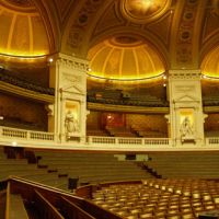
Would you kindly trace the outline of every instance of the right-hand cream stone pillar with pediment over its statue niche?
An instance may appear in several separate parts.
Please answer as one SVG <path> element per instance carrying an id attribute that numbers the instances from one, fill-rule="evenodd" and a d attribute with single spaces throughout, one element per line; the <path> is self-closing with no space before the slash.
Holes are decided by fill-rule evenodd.
<path id="1" fill-rule="evenodd" d="M 204 143 L 204 122 L 200 70 L 170 70 L 170 124 L 175 146 Z M 182 134 L 182 125 L 188 118 L 192 134 Z"/>

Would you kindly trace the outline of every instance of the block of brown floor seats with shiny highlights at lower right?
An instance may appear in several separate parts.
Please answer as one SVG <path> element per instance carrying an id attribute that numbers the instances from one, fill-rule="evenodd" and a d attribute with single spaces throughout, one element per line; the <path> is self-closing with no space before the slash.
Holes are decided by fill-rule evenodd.
<path id="1" fill-rule="evenodd" d="M 200 180 L 145 180 L 103 185 L 92 200 L 123 218 L 195 219 L 219 207 L 219 184 Z"/>

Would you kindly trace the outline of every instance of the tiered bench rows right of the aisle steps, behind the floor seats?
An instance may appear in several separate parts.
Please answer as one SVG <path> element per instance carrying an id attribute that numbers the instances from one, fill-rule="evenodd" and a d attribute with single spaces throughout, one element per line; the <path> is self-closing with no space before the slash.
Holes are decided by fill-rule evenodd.
<path id="1" fill-rule="evenodd" d="M 163 178 L 218 178 L 219 153 L 163 152 L 149 154 L 145 164 Z"/>

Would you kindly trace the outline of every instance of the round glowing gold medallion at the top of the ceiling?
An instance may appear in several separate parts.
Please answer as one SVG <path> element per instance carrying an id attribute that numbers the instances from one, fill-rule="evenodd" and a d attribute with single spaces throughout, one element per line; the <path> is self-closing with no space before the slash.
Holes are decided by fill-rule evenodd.
<path id="1" fill-rule="evenodd" d="M 135 23 L 148 23 L 165 13 L 172 0 L 122 0 L 124 16 Z"/>

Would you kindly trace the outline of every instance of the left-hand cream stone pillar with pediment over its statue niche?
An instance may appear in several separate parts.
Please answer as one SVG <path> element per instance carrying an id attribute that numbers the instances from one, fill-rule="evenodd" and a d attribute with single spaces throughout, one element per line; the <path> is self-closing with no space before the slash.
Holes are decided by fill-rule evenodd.
<path id="1" fill-rule="evenodd" d="M 58 54 L 50 66 L 50 87 L 55 88 L 54 127 L 60 142 L 85 141 L 88 61 Z M 73 122 L 67 120 L 71 113 Z M 70 124 L 70 125 L 69 125 Z M 69 127 L 73 126 L 70 130 Z"/>

